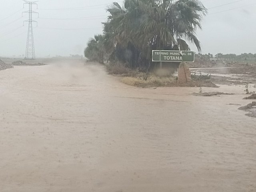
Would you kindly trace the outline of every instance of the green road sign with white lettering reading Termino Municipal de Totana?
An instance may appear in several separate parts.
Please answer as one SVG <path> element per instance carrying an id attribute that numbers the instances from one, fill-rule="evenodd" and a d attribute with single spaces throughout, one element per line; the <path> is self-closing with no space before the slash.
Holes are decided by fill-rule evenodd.
<path id="1" fill-rule="evenodd" d="M 170 51 L 170 50 L 152 50 L 152 61 L 163 62 L 194 62 L 194 51 Z"/>

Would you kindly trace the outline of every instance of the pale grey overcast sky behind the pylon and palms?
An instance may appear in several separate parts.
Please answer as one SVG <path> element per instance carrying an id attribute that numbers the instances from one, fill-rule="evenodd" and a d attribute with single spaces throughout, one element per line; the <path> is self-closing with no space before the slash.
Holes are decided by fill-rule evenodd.
<path id="1" fill-rule="evenodd" d="M 87 41 L 102 34 L 108 13 L 106 6 L 114 0 L 38 0 L 38 27 L 34 24 L 36 57 L 83 54 Z M 122 4 L 123 0 L 116 0 Z M 255 0 L 202 0 L 208 15 L 197 36 L 202 53 L 256 53 Z M 0 0 L 0 56 L 25 54 L 28 5 L 22 0 Z M 71 19 L 80 18 L 80 19 Z M 195 46 L 191 46 L 197 51 Z"/>

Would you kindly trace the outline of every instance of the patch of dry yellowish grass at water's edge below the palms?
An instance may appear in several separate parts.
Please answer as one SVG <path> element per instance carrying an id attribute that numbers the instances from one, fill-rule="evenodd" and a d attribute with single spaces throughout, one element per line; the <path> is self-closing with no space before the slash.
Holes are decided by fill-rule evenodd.
<path id="1" fill-rule="evenodd" d="M 135 86 L 135 87 L 163 87 L 163 86 L 175 86 L 177 81 L 174 77 L 149 77 L 147 80 L 143 80 L 139 77 L 124 77 L 122 82 Z"/>

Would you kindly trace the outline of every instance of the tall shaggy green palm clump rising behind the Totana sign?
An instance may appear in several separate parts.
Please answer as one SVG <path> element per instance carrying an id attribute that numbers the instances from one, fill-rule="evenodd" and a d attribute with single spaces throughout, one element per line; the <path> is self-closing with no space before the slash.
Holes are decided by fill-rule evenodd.
<path id="1" fill-rule="evenodd" d="M 149 67 L 152 49 L 189 50 L 192 42 L 201 50 L 196 30 L 207 10 L 199 0 L 125 0 L 107 11 L 105 47 L 131 66 Z"/>

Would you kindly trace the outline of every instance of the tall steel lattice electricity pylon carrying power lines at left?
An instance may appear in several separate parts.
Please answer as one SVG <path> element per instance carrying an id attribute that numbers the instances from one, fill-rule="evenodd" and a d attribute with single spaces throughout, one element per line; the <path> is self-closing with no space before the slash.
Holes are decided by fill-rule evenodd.
<path id="1" fill-rule="evenodd" d="M 25 12 L 22 12 L 22 16 L 23 16 L 23 13 L 28 13 L 28 20 L 24 21 L 24 22 L 28 22 L 28 36 L 27 36 L 25 59 L 35 59 L 36 56 L 35 56 L 34 34 L 33 34 L 33 25 L 32 25 L 32 23 L 33 22 L 37 23 L 37 21 L 32 20 L 32 14 L 33 13 L 38 14 L 38 12 L 34 12 L 32 10 L 32 6 L 33 5 L 37 6 L 37 4 L 36 4 L 37 1 L 26 1 L 26 0 L 23 0 L 23 1 L 25 2 L 24 4 L 29 5 L 29 10 L 25 11 Z M 24 4 L 23 4 L 23 8 L 24 8 Z M 23 22 L 23 25 L 24 25 L 24 22 Z"/>

